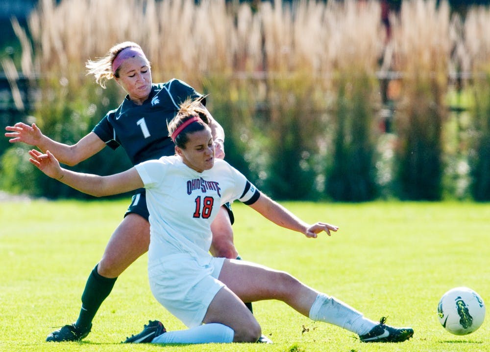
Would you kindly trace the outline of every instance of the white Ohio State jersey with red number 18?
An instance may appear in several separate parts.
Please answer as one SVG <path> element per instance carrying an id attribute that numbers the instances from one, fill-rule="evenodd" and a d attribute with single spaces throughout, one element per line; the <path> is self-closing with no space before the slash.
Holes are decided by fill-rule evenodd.
<path id="1" fill-rule="evenodd" d="M 202 173 L 185 165 L 177 155 L 135 167 L 147 191 L 149 266 L 179 253 L 206 264 L 210 260 L 210 226 L 220 206 L 235 199 L 251 204 L 259 197 L 245 176 L 221 159 Z"/>

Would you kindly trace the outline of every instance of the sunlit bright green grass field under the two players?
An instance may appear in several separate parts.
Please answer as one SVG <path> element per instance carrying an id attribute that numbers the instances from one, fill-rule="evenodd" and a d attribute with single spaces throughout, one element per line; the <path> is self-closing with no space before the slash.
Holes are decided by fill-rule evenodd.
<path id="1" fill-rule="evenodd" d="M 255 303 L 254 313 L 273 345 L 121 345 L 148 319 L 184 328 L 151 295 L 146 255 L 119 278 L 85 340 L 44 342 L 53 327 L 77 317 L 87 276 L 127 202 L 0 202 L 0 351 L 490 351 L 490 319 L 466 336 L 449 334 L 437 320 L 449 288 L 469 286 L 490 302 L 490 205 L 456 202 L 285 203 L 304 220 L 340 226 L 316 240 L 234 205 L 244 259 L 289 271 L 371 319 L 412 326 L 409 342 L 362 344 L 353 333 L 266 301 Z"/>

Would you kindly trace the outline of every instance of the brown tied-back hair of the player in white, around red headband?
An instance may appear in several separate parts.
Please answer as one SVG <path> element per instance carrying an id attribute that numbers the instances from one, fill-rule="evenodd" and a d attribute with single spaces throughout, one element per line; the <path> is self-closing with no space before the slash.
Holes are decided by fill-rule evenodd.
<path id="1" fill-rule="evenodd" d="M 188 127 L 185 127 L 173 141 L 175 145 L 179 148 L 185 149 L 186 143 L 189 141 L 188 134 L 197 131 L 202 131 L 206 128 L 210 128 L 208 125 L 210 123 L 207 110 L 202 105 L 202 99 L 205 97 L 199 97 L 195 99 L 188 98 L 181 105 L 177 115 L 170 121 L 168 125 L 169 137 L 172 137 L 173 132 L 175 132 L 182 124 L 187 120 L 198 117 L 199 121 L 197 123 L 191 123 Z"/>

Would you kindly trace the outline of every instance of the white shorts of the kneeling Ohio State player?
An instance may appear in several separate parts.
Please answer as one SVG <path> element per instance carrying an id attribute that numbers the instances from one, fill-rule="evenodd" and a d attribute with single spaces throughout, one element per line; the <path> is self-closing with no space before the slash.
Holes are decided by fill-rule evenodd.
<path id="1" fill-rule="evenodd" d="M 173 254 L 148 265 L 151 292 L 187 327 L 202 324 L 209 304 L 225 286 L 218 280 L 225 258 L 209 256 L 198 263 L 189 254 Z"/>

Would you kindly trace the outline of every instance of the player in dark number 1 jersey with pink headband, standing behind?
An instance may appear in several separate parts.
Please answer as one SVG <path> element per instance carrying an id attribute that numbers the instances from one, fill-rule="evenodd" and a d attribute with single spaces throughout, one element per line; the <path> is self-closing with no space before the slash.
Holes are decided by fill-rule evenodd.
<path id="1" fill-rule="evenodd" d="M 44 152 L 49 150 L 62 163 L 71 166 L 97 154 L 105 146 L 114 150 L 121 147 L 132 165 L 136 165 L 174 154 L 167 124 L 178 112 L 179 105 L 189 97 L 202 98 L 203 106 L 206 103 L 201 94 L 180 80 L 152 83 L 150 63 L 136 43 L 114 45 L 104 57 L 89 60 L 87 68 L 102 88 L 105 88 L 106 81 L 115 79 L 127 93 L 117 109 L 107 112 L 92 132 L 71 146 L 50 139 L 35 123 L 29 126 L 22 122 L 5 128 L 9 131 L 5 136 L 11 138 L 10 142 L 35 145 Z M 206 113 L 210 118 L 216 156 L 223 158 L 224 131 L 209 111 L 206 110 Z M 123 221 L 112 234 L 100 261 L 87 279 L 78 318 L 73 324 L 52 331 L 46 341 L 78 341 L 90 333 L 98 308 L 111 293 L 119 275 L 148 250 L 148 215 L 145 189 L 138 189 Z M 213 255 L 239 258 L 233 243 L 233 220 L 229 204 L 224 204 L 212 224 Z M 249 303 L 247 306 L 252 310 Z"/>

